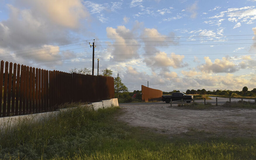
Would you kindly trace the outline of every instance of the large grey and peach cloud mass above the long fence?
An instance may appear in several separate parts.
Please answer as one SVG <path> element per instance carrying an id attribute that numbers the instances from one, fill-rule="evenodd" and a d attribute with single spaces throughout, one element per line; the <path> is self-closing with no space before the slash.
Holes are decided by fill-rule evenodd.
<path id="1" fill-rule="evenodd" d="M 8 8 L 9 18 L 0 22 L 0 33 L 3 39 L 0 48 L 8 52 L 41 47 L 53 49 L 51 44 L 69 43 L 72 41 L 71 37 L 78 34 L 80 29 L 85 30 L 81 21 L 86 21 L 90 16 L 80 0 L 72 2 L 64 0 L 61 3 L 22 0 L 18 1 L 16 6 L 8 5 Z M 72 35 L 71 32 L 73 32 Z M 53 51 L 56 49 L 49 50 L 49 53 Z M 41 51 L 37 54 L 47 52 Z M 18 54 L 13 54 L 13 57 L 17 57 Z M 70 54 L 70 56 L 73 55 Z M 35 60 L 53 60 L 62 57 L 61 53 L 55 52 L 18 60 L 35 62 Z"/>

